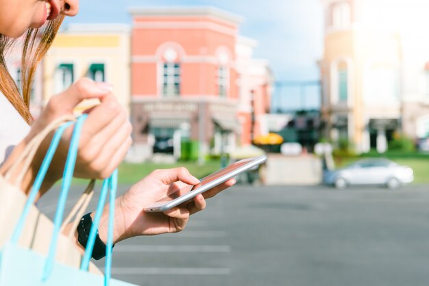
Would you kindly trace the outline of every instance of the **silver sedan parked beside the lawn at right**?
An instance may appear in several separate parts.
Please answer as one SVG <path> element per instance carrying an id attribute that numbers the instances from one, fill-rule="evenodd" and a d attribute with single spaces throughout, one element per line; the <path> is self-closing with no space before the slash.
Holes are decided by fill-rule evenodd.
<path id="1" fill-rule="evenodd" d="M 349 185 L 385 185 L 389 189 L 397 189 L 413 180 L 413 169 L 388 159 L 362 159 L 323 174 L 323 182 L 337 189 L 345 189 Z"/>

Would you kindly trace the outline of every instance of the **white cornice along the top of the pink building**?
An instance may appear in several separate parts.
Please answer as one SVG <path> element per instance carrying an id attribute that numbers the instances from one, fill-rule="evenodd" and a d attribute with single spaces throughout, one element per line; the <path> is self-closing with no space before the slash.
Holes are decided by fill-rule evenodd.
<path id="1" fill-rule="evenodd" d="M 235 24 L 244 22 L 243 16 L 214 7 L 130 7 L 132 16 L 215 16 Z"/>

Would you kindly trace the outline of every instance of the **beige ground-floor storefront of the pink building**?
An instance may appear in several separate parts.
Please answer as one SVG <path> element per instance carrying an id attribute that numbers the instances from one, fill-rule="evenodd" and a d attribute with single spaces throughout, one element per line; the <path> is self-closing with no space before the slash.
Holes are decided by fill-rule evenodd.
<path id="1" fill-rule="evenodd" d="M 234 101 L 141 99 L 132 103 L 131 117 L 136 146 L 176 158 L 182 142 L 189 141 L 201 142 L 205 154 L 230 151 L 241 129 Z"/>

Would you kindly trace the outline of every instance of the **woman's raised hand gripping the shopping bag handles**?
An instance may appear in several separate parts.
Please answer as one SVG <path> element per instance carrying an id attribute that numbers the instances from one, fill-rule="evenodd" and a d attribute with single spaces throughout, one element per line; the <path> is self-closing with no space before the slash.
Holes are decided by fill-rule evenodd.
<path id="1" fill-rule="evenodd" d="M 85 78 L 79 79 L 70 88 L 49 100 L 40 117 L 34 121 L 27 137 L 14 148 L 3 168 L 8 168 L 8 164 L 10 164 L 8 161 L 13 161 L 25 148 L 25 145 L 50 122 L 60 116 L 72 115 L 73 109 L 84 99 L 99 99 L 101 103 L 86 112 L 88 118 L 84 122 L 79 140 L 75 177 L 88 179 L 109 177 L 123 161 L 132 144 L 132 127 L 127 112 L 112 94 L 112 88 L 106 83 L 96 83 Z M 70 127 L 62 135 L 40 195 L 62 177 L 72 131 L 73 127 Z M 31 169 L 25 177 L 23 190 L 28 191 L 31 187 L 47 148 L 49 148 L 50 139 L 45 140 L 38 150 Z"/>

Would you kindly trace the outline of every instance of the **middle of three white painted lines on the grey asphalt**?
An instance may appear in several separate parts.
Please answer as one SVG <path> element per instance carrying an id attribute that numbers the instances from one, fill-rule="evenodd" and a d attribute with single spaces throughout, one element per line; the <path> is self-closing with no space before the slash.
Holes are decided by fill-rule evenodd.
<path id="1" fill-rule="evenodd" d="M 230 246 L 215 245 L 118 245 L 114 252 L 231 252 Z"/>

